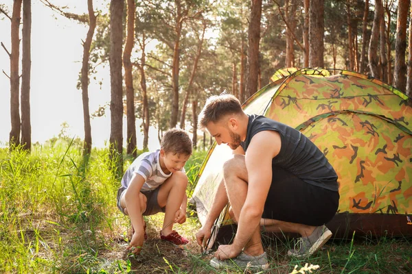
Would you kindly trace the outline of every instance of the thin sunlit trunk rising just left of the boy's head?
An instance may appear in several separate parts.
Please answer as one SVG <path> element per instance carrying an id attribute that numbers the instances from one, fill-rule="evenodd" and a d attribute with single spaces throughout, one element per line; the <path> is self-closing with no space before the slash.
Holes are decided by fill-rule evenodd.
<path id="1" fill-rule="evenodd" d="M 140 86 L 143 95 L 143 149 L 148 149 L 149 143 L 149 126 L 150 126 L 150 116 L 149 116 L 149 103 L 148 103 L 148 90 L 146 87 L 146 73 L 144 72 L 144 66 L 146 65 L 146 36 L 142 34 L 141 42 L 141 62 L 139 66 L 140 71 Z"/>

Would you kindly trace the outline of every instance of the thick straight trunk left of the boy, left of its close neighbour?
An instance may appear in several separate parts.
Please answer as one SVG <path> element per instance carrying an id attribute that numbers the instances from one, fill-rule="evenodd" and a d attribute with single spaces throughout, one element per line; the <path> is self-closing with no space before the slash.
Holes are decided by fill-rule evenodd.
<path id="1" fill-rule="evenodd" d="M 110 76 L 111 76 L 111 159 L 115 161 L 119 176 L 123 173 L 123 90 L 122 90 L 122 45 L 123 45 L 124 0 L 111 0 L 110 4 Z"/>

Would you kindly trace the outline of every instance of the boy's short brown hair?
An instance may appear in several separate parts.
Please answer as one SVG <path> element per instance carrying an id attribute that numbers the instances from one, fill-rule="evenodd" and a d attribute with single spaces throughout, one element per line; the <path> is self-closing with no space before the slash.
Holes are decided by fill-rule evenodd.
<path id="1" fill-rule="evenodd" d="M 182 129 L 169 129 L 161 138 L 160 148 L 165 153 L 192 155 L 192 140 Z"/>

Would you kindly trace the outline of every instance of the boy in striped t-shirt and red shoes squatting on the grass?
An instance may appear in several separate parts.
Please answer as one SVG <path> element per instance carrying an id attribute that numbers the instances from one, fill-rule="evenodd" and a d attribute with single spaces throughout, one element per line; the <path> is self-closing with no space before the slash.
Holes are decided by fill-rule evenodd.
<path id="1" fill-rule="evenodd" d="M 130 216 L 133 236 L 127 249 L 141 251 L 146 236 L 143 216 L 165 212 L 162 240 L 186 245 L 189 240 L 173 230 L 174 223 L 186 221 L 187 176 L 185 163 L 192 155 L 192 140 L 181 129 L 170 129 L 161 140 L 161 149 L 146 152 L 128 167 L 117 191 L 117 207 Z"/>

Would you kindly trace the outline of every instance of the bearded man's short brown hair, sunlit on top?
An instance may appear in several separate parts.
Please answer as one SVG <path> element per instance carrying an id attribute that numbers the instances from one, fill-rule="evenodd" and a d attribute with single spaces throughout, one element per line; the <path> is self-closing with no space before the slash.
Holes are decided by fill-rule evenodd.
<path id="1" fill-rule="evenodd" d="M 209 122 L 216 123 L 227 114 L 240 114 L 242 112 L 240 101 L 233 95 L 211 96 L 206 100 L 205 106 L 199 114 L 198 127 L 205 129 Z"/>

